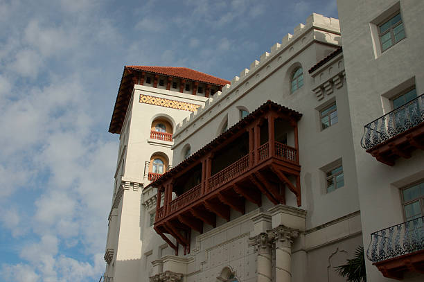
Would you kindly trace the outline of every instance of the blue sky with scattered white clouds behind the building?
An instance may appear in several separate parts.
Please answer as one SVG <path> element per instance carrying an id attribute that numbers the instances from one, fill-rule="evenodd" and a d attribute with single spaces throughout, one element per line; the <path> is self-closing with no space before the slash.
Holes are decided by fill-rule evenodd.
<path id="1" fill-rule="evenodd" d="M 231 80 L 329 1 L 0 0 L 0 277 L 98 281 L 125 64 Z"/>

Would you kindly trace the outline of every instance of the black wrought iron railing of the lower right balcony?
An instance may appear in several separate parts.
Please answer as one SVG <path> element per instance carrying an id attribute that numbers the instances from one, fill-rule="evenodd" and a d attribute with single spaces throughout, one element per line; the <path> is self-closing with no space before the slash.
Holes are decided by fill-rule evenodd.
<path id="1" fill-rule="evenodd" d="M 366 257 L 373 263 L 424 249 L 424 216 L 371 233 Z"/>

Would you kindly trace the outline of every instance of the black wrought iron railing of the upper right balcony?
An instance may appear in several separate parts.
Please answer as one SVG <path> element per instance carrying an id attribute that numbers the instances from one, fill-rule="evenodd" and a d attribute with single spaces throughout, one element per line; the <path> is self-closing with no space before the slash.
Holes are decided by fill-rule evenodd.
<path id="1" fill-rule="evenodd" d="M 361 146 L 366 150 L 424 121 L 424 94 L 364 126 Z"/>

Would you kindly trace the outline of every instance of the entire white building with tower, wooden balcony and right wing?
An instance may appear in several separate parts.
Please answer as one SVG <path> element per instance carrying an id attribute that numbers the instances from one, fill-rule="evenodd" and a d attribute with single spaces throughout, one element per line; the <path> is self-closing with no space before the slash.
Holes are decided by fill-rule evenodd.
<path id="1" fill-rule="evenodd" d="M 421 12 L 339 0 L 343 50 L 313 14 L 231 83 L 125 67 L 105 281 L 344 281 L 362 245 L 422 281 Z"/>

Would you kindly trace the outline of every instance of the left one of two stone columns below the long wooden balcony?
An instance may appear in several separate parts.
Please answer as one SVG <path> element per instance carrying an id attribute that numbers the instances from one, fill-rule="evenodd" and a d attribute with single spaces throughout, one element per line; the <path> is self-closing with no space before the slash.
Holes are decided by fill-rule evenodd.
<path id="1" fill-rule="evenodd" d="M 272 239 L 265 232 L 249 239 L 258 251 L 258 282 L 272 282 Z"/>

